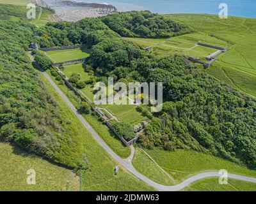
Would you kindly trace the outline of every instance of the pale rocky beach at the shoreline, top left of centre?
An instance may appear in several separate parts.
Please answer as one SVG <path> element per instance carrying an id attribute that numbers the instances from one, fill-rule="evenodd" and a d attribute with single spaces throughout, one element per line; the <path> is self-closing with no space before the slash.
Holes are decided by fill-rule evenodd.
<path id="1" fill-rule="evenodd" d="M 33 0 L 38 6 L 52 8 L 63 21 L 77 21 L 85 17 L 100 17 L 115 13 L 115 6 L 97 3 L 78 3 L 65 0 Z"/>

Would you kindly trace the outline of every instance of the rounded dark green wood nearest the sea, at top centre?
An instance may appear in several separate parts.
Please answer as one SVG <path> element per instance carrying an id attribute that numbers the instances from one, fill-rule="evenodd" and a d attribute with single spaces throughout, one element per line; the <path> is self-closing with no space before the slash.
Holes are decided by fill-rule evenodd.
<path id="1" fill-rule="evenodd" d="M 188 27 L 150 11 L 120 12 L 102 21 L 124 37 L 166 38 L 188 33 Z"/>

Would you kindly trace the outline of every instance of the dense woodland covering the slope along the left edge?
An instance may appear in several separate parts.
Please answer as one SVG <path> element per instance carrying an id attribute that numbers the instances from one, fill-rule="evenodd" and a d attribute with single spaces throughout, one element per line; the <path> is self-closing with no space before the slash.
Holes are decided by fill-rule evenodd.
<path id="1" fill-rule="evenodd" d="M 64 129 L 58 105 L 28 57 L 34 29 L 0 22 L 0 137 L 54 159 Z"/>

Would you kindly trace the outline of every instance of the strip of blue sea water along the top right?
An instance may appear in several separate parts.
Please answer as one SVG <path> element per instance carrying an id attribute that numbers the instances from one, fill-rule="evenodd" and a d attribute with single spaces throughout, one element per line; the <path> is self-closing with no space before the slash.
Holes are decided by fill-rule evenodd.
<path id="1" fill-rule="evenodd" d="M 256 0 L 76 0 L 112 4 L 119 11 L 150 10 L 154 13 L 209 13 L 218 15 L 219 4 L 228 5 L 228 15 L 256 18 Z"/>

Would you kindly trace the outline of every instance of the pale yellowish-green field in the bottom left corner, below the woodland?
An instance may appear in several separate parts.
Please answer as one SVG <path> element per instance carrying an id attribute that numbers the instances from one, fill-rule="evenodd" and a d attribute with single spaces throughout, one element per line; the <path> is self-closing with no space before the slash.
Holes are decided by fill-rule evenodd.
<path id="1" fill-rule="evenodd" d="M 9 143 L 0 142 L 0 191 L 79 191 L 79 177 Z M 27 171 L 36 172 L 36 184 L 28 185 Z"/>

